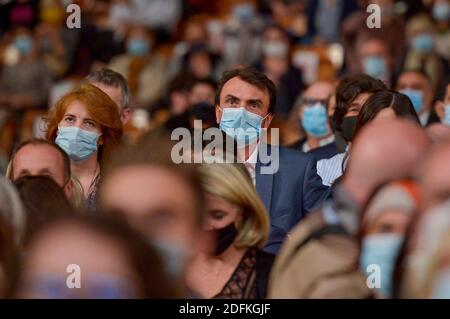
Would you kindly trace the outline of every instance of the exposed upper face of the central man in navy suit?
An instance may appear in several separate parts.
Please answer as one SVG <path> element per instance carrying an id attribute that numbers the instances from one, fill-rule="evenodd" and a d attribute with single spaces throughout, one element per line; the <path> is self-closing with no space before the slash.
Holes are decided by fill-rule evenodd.
<path id="1" fill-rule="evenodd" d="M 265 117 L 261 127 L 268 128 L 273 115 L 269 114 L 269 94 L 256 86 L 241 80 L 239 77 L 230 79 L 222 88 L 220 105 L 216 105 L 216 120 L 220 123 L 221 108 L 245 107 L 249 112 Z"/>

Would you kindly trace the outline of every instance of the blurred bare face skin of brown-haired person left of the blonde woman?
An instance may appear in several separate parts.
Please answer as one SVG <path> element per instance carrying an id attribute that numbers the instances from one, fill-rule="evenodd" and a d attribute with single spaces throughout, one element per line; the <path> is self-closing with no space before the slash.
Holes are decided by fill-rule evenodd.
<path id="1" fill-rule="evenodd" d="M 197 235 L 192 193 L 174 174 L 153 166 L 119 169 L 101 189 L 101 206 L 118 210 L 149 239 L 191 249 Z"/>

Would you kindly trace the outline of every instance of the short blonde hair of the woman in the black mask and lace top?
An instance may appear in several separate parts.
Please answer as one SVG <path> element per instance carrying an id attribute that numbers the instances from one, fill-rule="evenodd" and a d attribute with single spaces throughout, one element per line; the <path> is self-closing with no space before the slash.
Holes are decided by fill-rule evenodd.
<path id="1" fill-rule="evenodd" d="M 201 164 L 199 171 L 205 193 L 242 208 L 242 223 L 236 225 L 235 246 L 262 248 L 269 237 L 269 217 L 245 166 L 241 163 Z"/>

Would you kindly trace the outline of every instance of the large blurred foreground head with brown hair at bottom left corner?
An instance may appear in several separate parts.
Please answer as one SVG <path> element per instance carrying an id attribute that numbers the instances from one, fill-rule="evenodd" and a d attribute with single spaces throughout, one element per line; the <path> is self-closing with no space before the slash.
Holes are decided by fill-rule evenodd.
<path id="1" fill-rule="evenodd" d="M 176 294 L 160 257 L 145 239 L 119 220 L 86 215 L 52 221 L 32 237 L 16 297 L 173 298 Z"/>

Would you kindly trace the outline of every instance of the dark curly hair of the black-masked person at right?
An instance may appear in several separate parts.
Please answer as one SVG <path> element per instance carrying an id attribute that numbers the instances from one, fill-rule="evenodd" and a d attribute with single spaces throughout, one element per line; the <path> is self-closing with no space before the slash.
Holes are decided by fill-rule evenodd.
<path id="1" fill-rule="evenodd" d="M 387 90 L 386 85 L 367 74 L 344 77 L 336 88 L 336 110 L 333 121 L 336 130 L 342 130 L 342 120 L 347 114 L 351 102 L 361 93 L 375 93 Z"/>

